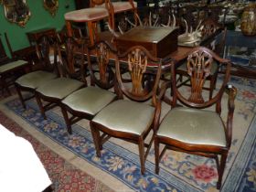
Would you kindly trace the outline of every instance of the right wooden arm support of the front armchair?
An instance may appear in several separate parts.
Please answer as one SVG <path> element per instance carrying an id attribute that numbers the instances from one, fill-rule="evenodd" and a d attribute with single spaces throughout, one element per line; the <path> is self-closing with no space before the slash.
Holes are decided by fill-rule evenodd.
<path id="1" fill-rule="evenodd" d="M 237 95 L 237 89 L 232 86 L 232 85 L 227 85 L 226 87 L 226 92 L 229 95 L 229 101 L 228 101 L 228 119 L 227 119 L 227 141 L 228 141 L 228 146 L 230 146 L 231 141 L 232 141 L 232 123 L 233 123 L 233 114 L 235 110 L 235 98 Z"/>

